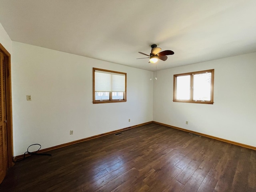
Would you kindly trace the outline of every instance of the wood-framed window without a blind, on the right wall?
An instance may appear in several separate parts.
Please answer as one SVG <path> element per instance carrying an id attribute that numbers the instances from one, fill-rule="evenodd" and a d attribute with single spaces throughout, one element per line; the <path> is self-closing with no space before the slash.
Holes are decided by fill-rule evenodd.
<path id="1" fill-rule="evenodd" d="M 213 104 L 214 69 L 174 75 L 173 101 Z"/>

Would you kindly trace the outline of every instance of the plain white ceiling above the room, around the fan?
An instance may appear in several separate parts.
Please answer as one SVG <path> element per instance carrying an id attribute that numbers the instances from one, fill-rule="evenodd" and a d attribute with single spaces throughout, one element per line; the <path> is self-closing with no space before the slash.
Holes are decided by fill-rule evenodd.
<path id="1" fill-rule="evenodd" d="M 13 41 L 145 70 L 256 52 L 255 0 L 0 0 Z"/>

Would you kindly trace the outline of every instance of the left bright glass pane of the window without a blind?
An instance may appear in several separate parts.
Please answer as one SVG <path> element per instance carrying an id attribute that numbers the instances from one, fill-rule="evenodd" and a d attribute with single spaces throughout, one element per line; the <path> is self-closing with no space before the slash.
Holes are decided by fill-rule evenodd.
<path id="1" fill-rule="evenodd" d="M 190 75 L 178 76 L 176 78 L 176 99 L 190 99 Z"/>

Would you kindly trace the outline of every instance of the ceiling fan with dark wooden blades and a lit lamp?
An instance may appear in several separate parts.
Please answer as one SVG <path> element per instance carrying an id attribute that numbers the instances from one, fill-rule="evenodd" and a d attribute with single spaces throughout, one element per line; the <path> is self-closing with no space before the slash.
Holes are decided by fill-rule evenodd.
<path id="1" fill-rule="evenodd" d="M 165 50 L 165 51 L 162 51 L 162 52 L 160 52 L 160 51 L 161 51 L 161 48 L 157 47 L 156 44 L 153 44 L 153 45 L 151 45 L 151 53 L 150 53 L 150 55 L 142 53 L 142 52 L 139 52 L 140 54 L 143 54 L 143 55 L 146 55 L 146 56 L 149 56 L 149 57 L 137 58 L 137 59 L 150 58 L 149 62 L 155 63 L 155 62 L 158 61 L 158 59 L 166 61 L 167 58 L 168 58 L 166 55 L 173 55 L 174 54 L 174 52 L 171 51 L 171 50 Z"/>

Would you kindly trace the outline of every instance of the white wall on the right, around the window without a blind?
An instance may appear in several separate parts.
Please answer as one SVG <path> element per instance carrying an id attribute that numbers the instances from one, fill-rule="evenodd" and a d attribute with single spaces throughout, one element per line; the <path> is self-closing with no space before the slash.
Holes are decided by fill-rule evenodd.
<path id="1" fill-rule="evenodd" d="M 208 69 L 214 104 L 172 101 L 174 74 Z M 256 146 L 256 53 L 158 71 L 153 98 L 156 122 Z"/>

